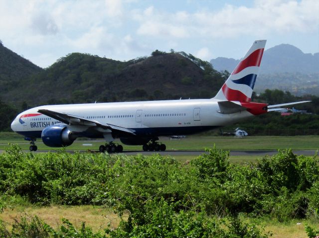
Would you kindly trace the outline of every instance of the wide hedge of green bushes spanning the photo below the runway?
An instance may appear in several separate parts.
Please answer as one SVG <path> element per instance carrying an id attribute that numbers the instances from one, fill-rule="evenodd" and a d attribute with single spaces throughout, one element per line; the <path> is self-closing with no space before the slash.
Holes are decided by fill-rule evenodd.
<path id="1" fill-rule="evenodd" d="M 33 154 L 11 146 L 0 154 L 0 208 L 14 201 L 96 204 L 114 207 L 120 215 L 130 211 L 132 219 L 143 220 L 145 203 L 164 199 L 175 213 L 220 218 L 247 213 L 280 221 L 318 217 L 316 157 L 297 157 L 286 150 L 255 164 L 231 164 L 229 152 L 206 152 L 181 164 L 160 155 Z"/>

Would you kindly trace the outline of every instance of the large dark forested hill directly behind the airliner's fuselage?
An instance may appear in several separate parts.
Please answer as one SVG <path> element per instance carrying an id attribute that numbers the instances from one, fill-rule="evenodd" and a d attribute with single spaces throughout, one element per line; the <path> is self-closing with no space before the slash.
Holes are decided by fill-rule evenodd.
<path id="1" fill-rule="evenodd" d="M 182 56 L 182 55 L 183 56 Z M 155 51 L 128 62 L 72 53 L 49 68 L 20 79 L 2 100 L 28 106 L 56 103 L 210 98 L 227 75 L 180 53 Z"/>

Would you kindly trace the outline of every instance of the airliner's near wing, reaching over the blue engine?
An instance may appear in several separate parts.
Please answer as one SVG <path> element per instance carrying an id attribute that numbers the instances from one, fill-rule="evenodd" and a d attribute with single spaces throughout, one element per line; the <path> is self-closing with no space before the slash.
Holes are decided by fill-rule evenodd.
<path id="1" fill-rule="evenodd" d="M 39 109 L 39 113 L 42 113 L 43 115 L 52 117 L 58 121 L 61 121 L 65 124 L 68 125 L 82 125 L 82 126 L 92 126 L 92 127 L 101 127 L 103 129 L 110 129 L 113 131 L 121 131 L 121 132 L 126 132 L 132 135 L 135 135 L 133 130 L 130 130 L 128 128 L 116 126 L 116 125 L 111 125 L 111 124 L 101 124 L 100 122 L 96 120 L 91 120 L 88 118 L 84 117 L 79 117 L 75 115 L 70 115 L 67 113 L 60 113 L 60 112 L 55 112 L 55 111 L 50 111 L 47 109 Z"/>

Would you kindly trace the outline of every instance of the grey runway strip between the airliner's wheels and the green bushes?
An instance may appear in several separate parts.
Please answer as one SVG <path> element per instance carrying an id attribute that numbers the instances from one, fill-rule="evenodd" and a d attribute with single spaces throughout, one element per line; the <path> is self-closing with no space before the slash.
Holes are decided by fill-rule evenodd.
<path id="1" fill-rule="evenodd" d="M 3 153 L 3 150 L 0 150 L 0 154 Z M 28 150 L 24 150 L 23 152 L 29 152 Z M 49 151 L 44 151 L 44 150 L 39 150 L 37 152 L 32 152 L 32 153 L 47 153 Z M 51 150 L 50 152 L 55 152 L 54 150 Z M 71 150 L 66 150 L 68 153 L 75 153 L 75 152 L 80 152 L 80 153 L 85 153 L 87 151 L 71 151 Z M 98 151 L 91 151 L 92 153 L 100 153 Z M 230 151 L 230 156 L 273 156 L 277 154 L 278 151 L 272 150 L 272 151 L 266 151 L 266 150 L 261 150 L 261 151 Z M 304 155 L 304 156 L 314 156 L 316 155 L 317 151 L 293 151 L 295 155 Z M 124 151 L 120 154 L 128 155 L 128 156 L 135 156 L 138 154 L 150 156 L 153 154 L 160 154 L 162 156 L 199 156 L 201 154 L 207 154 L 205 151 Z"/>

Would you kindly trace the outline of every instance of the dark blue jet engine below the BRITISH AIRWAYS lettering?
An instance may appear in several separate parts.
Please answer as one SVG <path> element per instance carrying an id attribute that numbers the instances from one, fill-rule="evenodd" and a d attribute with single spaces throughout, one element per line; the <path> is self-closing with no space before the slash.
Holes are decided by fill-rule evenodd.
<path id="1" fill-rule="evenodd" d="M 41 134 L 43 143 L 49 147 L 70 146 L 76 137 L 66 125 L 52 125 L 46 127 Z"/>

